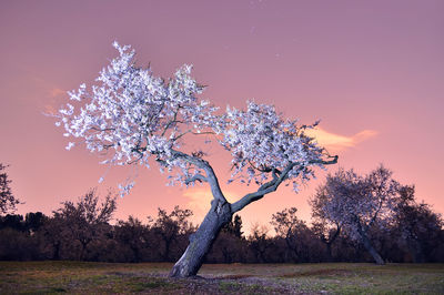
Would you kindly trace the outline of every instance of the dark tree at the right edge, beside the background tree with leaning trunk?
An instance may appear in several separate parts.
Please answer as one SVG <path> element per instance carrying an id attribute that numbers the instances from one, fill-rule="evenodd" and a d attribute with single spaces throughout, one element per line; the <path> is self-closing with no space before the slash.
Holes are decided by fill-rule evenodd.
<path id="1" fill-rule="evenodd" d="M 413 262 L 430 261 L 427 256 L 436 247 L 444 245 L 444 241 L 440 241 L 444 226 L 441 215 L 434 213 L 430 205 L 416 202 L 414 185 L 401 186 L 397 201 L 395 226 L 401 232 Z"/>

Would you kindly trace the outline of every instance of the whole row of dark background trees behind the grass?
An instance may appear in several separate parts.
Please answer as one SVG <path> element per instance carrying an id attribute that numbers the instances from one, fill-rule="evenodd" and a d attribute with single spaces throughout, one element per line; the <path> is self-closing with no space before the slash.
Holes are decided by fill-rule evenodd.
<path id="1" fill-rule="evenodd" d="M 312 224 L 290 207 L 248 235 L 234 215 L 204 262 L 444 262 L 442 216 L 416 200 L 414 185 L 398 184 L 383 166 L 364 176 L 353 170 L 329 174 L 310 203 Z M 0 260 L 175 262 L 198 228 L 190 222 L 192 211 L 179 206 L 159 208 L 145 221 L 129 216 L 111 224 L 115 210 L 115 195 L 101 199 L 91 190 L 49 216 L 3 214 Z"/>

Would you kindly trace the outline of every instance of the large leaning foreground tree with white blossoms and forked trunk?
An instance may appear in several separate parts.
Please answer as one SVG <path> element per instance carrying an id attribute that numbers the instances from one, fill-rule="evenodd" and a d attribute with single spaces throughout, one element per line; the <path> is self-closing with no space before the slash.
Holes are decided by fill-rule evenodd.
<path id="1" fill-rule="evenodd" d="M 72 102 L 60 110 L 56 124 L 64 128 L 65 136 L 75 139 L 68 150 L 84 142 L 89 151 L 108 156 L 102 163 L 150 167 L 157 162 L 161 171 L 174 173 L 173 184 L 210 185 L 211 208 L 171 276 L 195 275 L 221 227 L 235 212 L 284 182 L 292 182 L 296 191 L 299 182 L 314 175 L 315 166 L 337 162 L 337 156 L 330 156 L 305 134 L 316 123 L 300 125 L 282 118 L 274 106 L 254 102 L 248 102 L 246 110 L 228 108 L 223 113 L 196 98 L 203 87 L 190 75 L 191 65 L 183 65 L 164 81 L 151 69 L 137 67 L 129 45 L 113 45 L 119 57 L 100 72 L 97 85 L 87 90 L 81 84 L 78 91 L 69 92 Z M 253 182 L 258 189 L 229 203 L 203 151 L 184 148 L 186 140 L 202 134 L 231 153 L 230 182 Z M 121 189 L 128 192 L 132 185 Z"/>

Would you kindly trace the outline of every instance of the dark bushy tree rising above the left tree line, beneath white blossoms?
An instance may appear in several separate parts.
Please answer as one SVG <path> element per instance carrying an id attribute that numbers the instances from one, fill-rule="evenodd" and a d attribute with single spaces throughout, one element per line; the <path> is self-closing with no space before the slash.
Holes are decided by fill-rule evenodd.
<path id="1" fill-rule="evenodd" d="M 63 231 L 81 245 L 79 260 L 84 260 L 88 245 L 100 238 L 108 227 L 112 214 L 117 210 L 117 200 L 112 193 L 99 205 L 95 190 L 89 191 L 79 197 L 74 204 L 71 201 L 62 203 L 62 207 L 54 211 L 54 218 L 63 225 Z"/>

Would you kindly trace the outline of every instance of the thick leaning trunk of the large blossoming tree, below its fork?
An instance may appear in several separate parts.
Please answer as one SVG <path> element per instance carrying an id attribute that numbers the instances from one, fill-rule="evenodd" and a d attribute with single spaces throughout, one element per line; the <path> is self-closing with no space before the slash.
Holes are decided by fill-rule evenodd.
<path id="1" fill-rule="evenodd" d="M 198 274 L 205 254 L 218 237 L 222 226 L 231 221 L 233 213 L 230 203 L 219 200 L 211 202 L 211 208 L 198 231 L 190 236 L 190 244 L 182 257 L 170 272 L 171 277 L 189 277 Z"/>

